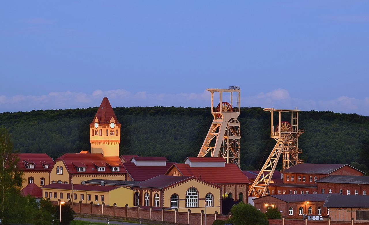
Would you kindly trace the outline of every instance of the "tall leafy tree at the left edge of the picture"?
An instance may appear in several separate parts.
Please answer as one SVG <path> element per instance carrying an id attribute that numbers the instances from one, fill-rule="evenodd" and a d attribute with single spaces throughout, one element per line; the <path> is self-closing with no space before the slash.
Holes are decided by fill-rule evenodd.
<path id="1" fill-rule="evenodd" d="M 18 160 L 8 130 L 0 127 L 0 218 L 3 223 L 22 215 L 17 214 L 19 203 L 23 200 L 20 194 L 23 172 L 15 168 Z"/>

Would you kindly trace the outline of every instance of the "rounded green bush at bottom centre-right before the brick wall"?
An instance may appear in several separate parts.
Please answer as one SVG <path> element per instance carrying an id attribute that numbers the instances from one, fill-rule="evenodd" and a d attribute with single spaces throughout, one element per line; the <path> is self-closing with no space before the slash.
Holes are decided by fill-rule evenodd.
<path id="1" fill-rule="evenodd" d="M 240 202 L 231 208 L 231 212 L 233 225 L 269 225 L 266 215 L 251 204 Z"/>

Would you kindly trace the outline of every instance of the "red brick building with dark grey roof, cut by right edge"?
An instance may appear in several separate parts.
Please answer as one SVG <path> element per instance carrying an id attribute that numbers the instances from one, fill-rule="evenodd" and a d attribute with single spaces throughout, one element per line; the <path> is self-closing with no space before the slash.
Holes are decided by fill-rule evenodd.
<path id="1" fill-rule="evenodd" d="M 316 181 L 318 193 L 369 194 L 369 176 L 331 175 Z"/>

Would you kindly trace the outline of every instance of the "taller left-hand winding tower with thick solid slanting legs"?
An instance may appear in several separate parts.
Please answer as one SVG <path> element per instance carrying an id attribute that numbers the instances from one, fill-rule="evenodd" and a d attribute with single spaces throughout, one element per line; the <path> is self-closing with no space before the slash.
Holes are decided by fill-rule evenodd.
<path id="1" fill-rule="evenodd" d="M 209 154 L 211 157 L 223 157 L 226 163 L 236 163 L 239 167 L 241 131 L 237 117 L 240 113 L 240 87 L 230 86 L 229 89 L 206 90 L 211 93 L 211 114 L 214 120 L 197 157 L 206 157 Z M 214 93 L 219 94 L 219 102 L 216 100 L 214 102 Z M 228 96 L 223 96 L 224 94 Z M 223 101 L 224 98 L 227 98 L 229 102 Z M 217 106 L 214 107 L 215 105 Z"/>

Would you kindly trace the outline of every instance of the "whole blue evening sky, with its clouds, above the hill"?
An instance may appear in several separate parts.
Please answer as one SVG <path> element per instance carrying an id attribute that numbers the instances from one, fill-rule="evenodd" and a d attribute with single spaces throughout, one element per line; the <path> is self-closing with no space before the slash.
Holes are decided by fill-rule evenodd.
<path id="1" fill-rule="evenodd" d="M 0 112 L 241 107 L 369 115 L 369 2 L 1 1 Z"/>

